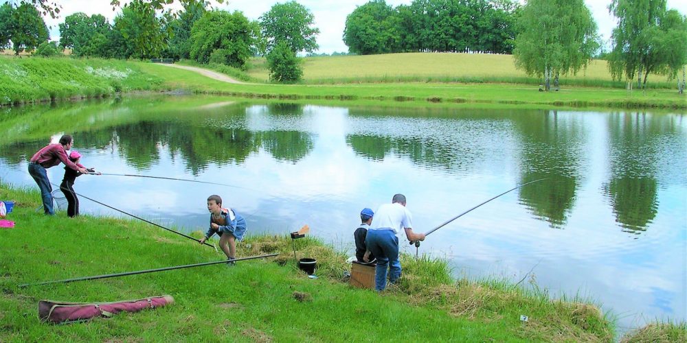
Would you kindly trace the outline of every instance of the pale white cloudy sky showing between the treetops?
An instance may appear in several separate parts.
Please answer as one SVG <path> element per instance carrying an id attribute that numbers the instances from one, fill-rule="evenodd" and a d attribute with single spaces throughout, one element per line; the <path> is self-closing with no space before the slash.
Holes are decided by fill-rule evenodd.
<path id="1" fill-rule="evenodd" d="M 0 3 L 7 1 L 0 0 Z M 85 12 L 88 15 L 102 14 L 112 21 L 117 12 L 121 11 L 119 8 L 113 11 L 110 0 L 56 0 L 56 2 L 62 6 L 60 17 L 58 19 L 45 19 L 45 23 L 49 26 L 52 40 L 59 39 L 58 24 L 63 23 L 65 16 L 69 14 L 75 12 Z M 122 1 L 122 3 L 124 2 Z M 212 5 L 221 10 L 239 10 L 248 19 L 254 20 L 269 11 L 275 3 L 284 2 L 286 0 L 225 0 L 222 4 L 212 1 Z M 317 36 L 317 44 L 319 44 L 317 52 L 331 54 L 335 51 L 348 51 L 348 47 L 343 44 L 343 38 L 341 38 L 343 36 L 343 29 L 346 27 L 346 16 L 353 12 L 357 6 L 367 3 L 368 0 L 297 0 L 297 2 L 311 10 L 315 16 L 315 27 L 319 28 L 320 31 L 320 34 Z M 615 19 L 608 13 L 607 6 L 610 2 L 611 0 L 585 0 L 587 7 L 592 11 L 605 46 L 609 46 L 608 42 L 611 37 L 611 31 L 616 26 Z M 387 0 L 386 3 L 396 7 L 398 5 L 409 5 L 412 3 L 412 0 Z M 668 0 L 667 3 L 668 9 L 675 8 L 682 14 L 687 14 L 687 0 Z"/>

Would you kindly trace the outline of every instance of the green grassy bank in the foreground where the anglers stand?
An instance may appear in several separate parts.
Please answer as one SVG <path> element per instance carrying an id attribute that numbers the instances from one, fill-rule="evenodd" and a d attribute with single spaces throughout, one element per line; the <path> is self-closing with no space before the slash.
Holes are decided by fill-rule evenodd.
<path id="1" fill-rule="evenodd" d="M 15 228 L 0 229 L 0 341 L 602 341 L 609 320 L 592 305 L 549 300 L 499 281 L 452 281 L 444 261 L 404 256 L 404 276 L 376 294 L 350 287 L 346 255 L 300 239 L 299 257 L 315 257 L 319 279 L 293 263 L 291 239 L 252 236 L 240 256 L 280 252 L 232 268 L 140 274 L 100 281 L 18 287 L 78 276 L 218 261 L 222 255 L 142 222 L 103 217 L 46 217 L 37 191 L 0 185 L 16 202 Z M 252 228 L 254 232 L 259 228 Z M 170 294 L 170 307 L 70 325 L 38 321 L 40 299 L 112 301 Z M 529 316 L 523 323 L 519 316 Z"/>

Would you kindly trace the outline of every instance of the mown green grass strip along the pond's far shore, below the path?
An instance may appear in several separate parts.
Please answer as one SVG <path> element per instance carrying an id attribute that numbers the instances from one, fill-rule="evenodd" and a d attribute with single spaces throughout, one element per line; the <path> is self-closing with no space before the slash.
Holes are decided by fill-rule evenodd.
<path id="1" fill-rule="evenodd" d="M 338 57 L 336 57 L 338 58 Z M 234 97 L 291 100 L 344 100 L 350 105 L 371 102 L 405 102 L 407 106 L 455 106 L 499 104 L 502 106 L 556 106 L 604 108 L 687 108 L 677 91 L 624 91 L 613 88 L 574 87 L 558 92 L 539 92 L 537 86 L 514 84 L 373 83 L 330 85 L 227 84 L 209 80 L 192 71 L 139 63 L 145 73 L 166 80 L 172 88 Z"/>

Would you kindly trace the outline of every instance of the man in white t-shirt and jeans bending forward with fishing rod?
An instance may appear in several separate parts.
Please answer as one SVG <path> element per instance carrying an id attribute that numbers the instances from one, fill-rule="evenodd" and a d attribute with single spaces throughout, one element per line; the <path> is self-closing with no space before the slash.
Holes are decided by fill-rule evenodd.
<path id="1" fill-rule="evenodd" d="M 374 272 L 374 288 L 386 288 L 387 265 L 389 282 L 395 283 L 401 277 L 401 262 L 398 261 L 398 236 L 404 232 L 409 241 L 424 241 L 424 233 L 414 233 L 412 215 L 405 208 L 405 196 L 396 194 L 391 204 L 383 204 L 374 212 L 372 224 L 365 237 L 365 245 L 377 259 Z"/>

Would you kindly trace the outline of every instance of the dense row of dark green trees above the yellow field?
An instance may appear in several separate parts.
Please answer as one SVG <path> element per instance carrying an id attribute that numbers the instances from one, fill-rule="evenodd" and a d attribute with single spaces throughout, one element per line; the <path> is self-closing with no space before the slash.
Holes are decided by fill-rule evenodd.
<path id="1" fill-rule="evenodd" d="M 511 0 L 372 0 L 346 17 L 343 42 L 357 54 L 484 52 L 510 54 L 520 6 Z"/>

